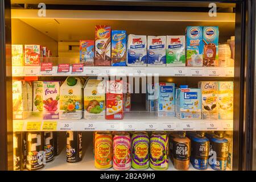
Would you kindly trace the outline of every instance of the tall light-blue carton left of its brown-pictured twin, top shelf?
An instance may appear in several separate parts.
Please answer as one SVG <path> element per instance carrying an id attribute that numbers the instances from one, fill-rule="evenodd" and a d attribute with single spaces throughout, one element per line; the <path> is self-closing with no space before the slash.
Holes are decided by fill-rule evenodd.
<path id="1" fill-rule="evenodd" d="M 203 66 L 203 27 L 187 27 L 187 66 L 202 67 Z"/>

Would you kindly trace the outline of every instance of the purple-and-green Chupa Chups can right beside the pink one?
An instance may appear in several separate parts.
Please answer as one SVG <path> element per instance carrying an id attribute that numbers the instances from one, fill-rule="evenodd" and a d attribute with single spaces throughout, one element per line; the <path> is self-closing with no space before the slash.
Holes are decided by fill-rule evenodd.
<path id="1" fill-rule="evenodd" d="M 147 132 L 136 131 L 131 138 L 131 167 L 147 169 L 149 167 L 150 140 Z"/>

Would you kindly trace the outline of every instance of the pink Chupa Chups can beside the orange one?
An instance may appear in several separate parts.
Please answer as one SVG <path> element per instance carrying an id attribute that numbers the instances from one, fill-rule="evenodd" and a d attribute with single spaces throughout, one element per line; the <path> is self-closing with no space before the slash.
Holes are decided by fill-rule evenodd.
<path id="1" fill-rule="evenodd" d="M 114 133 L 113 138 L 113 168 L 115 170 L 129 170 L 131 138 L 127 132 Z"/>

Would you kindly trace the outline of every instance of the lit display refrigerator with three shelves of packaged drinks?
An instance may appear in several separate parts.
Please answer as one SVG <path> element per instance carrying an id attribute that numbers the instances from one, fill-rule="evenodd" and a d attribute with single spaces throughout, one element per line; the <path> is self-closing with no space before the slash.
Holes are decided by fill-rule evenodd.
<path id="1" fill-rule="evenodd" d="M 1 3 L 0 169 L 246 169 L 247 1 Z"/>

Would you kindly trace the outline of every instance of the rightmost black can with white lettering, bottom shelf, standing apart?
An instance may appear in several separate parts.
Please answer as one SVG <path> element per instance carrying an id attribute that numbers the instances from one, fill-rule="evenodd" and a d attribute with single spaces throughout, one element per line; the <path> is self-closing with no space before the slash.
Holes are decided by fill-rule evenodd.
<path id="1" fill-rule="evenodd" d="M 67 162 L 77 163 L 82 160 L 82 133 L 67 131 Z"/>

